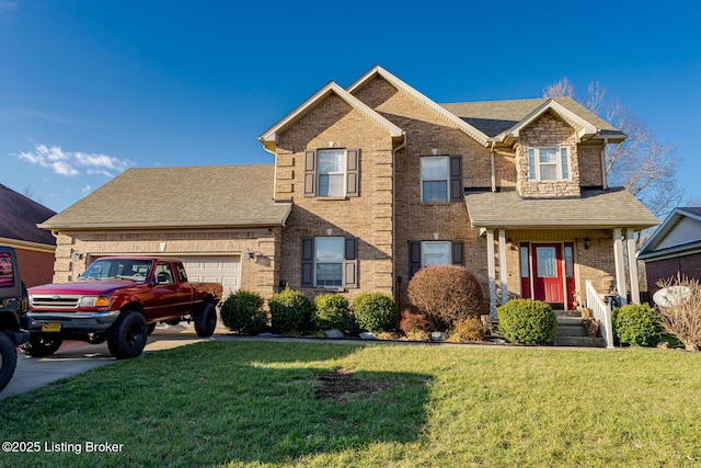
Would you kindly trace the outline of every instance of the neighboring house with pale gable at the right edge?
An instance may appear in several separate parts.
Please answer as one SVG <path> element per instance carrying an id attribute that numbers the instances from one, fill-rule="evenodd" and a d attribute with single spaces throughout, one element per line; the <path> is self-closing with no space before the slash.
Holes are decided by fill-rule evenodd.
<path id="1" fill-rule="evenodd" d="M 651 297 L 660 279 L 677 275 L 701 281 L 701 208 L 676 208 L 637 253 L 645 262 Z"/>

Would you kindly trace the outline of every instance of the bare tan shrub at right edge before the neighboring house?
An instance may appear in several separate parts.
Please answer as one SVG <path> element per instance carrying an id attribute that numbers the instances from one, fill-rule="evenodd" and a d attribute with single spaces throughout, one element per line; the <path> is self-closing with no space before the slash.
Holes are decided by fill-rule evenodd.
<path id="1" fill-rule="evenodd" d="M 677 275 L 657 282 L 666 288 L 667 307 L 657 306 L 659 327 L 681 341 L 689 351 L 701 345 L 701 286 L 698 279 Z"/>

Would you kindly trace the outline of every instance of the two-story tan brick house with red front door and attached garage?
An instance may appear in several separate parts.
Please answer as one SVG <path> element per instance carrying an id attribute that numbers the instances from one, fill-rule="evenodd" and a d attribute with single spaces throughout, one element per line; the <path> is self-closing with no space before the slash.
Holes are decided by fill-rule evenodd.
<path id="1" fill-rule="evenodd" d="M 453 263 L 483 283 L 492 311 L 510 296 L 572 308 L 586 281 L 601 294 L 617 283 L 625 297 L 627 272 L 637 272 L 623 251 L 633 259 L 633 232 L 658 224 L 607 185 L 604 149 L 624 139 L 570 98 L 439 105 L 375 67 L 347 89 L 330 82 L 261 135 L 275 156 L 267 172 L 131 170 L 43 226 L 60 232 L 64 279 L 110 252 L 253 252 L 241 285 L 264 296 L 284 285 L 310 297 L 382 292 L 406 307 L 417 270 Z M 181 171 L 179 183 L 158 171 Z M 193 224 L 191 205 L 208 208 L 206 222 Z M 250 205 L 271 213 L 254 226 L 267 230 L 223 222 Z M 635 279 L 630 289 L 637 300 Z"/>

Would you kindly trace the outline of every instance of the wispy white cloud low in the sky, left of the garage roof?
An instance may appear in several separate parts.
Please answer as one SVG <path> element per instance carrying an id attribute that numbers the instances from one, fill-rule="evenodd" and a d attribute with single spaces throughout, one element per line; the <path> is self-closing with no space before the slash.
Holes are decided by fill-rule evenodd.
<path id="1" fill-rule="evenodd" d="M 33 151 L 20 152 L 19 158 L 69 178 L 83 172 L 89 175 L 102 174 L 112 178 L 115 173 L 134 165 L 134 162 L 128 159 L 94 152 L 65 151 L 59 146 L 47 147 L 42 144 L 35 145 Z"/>

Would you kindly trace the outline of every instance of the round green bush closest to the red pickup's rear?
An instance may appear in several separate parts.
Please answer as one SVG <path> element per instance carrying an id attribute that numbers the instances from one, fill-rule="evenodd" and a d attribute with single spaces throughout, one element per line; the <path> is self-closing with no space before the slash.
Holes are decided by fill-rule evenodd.
<path id="1" fill-rule="evenodd" d="M 267 322 L 263 297 L 248 289 L 230 294 L 221 305 L 221 321 L 231 331 L 242 334 L 261 333 Z"/>

